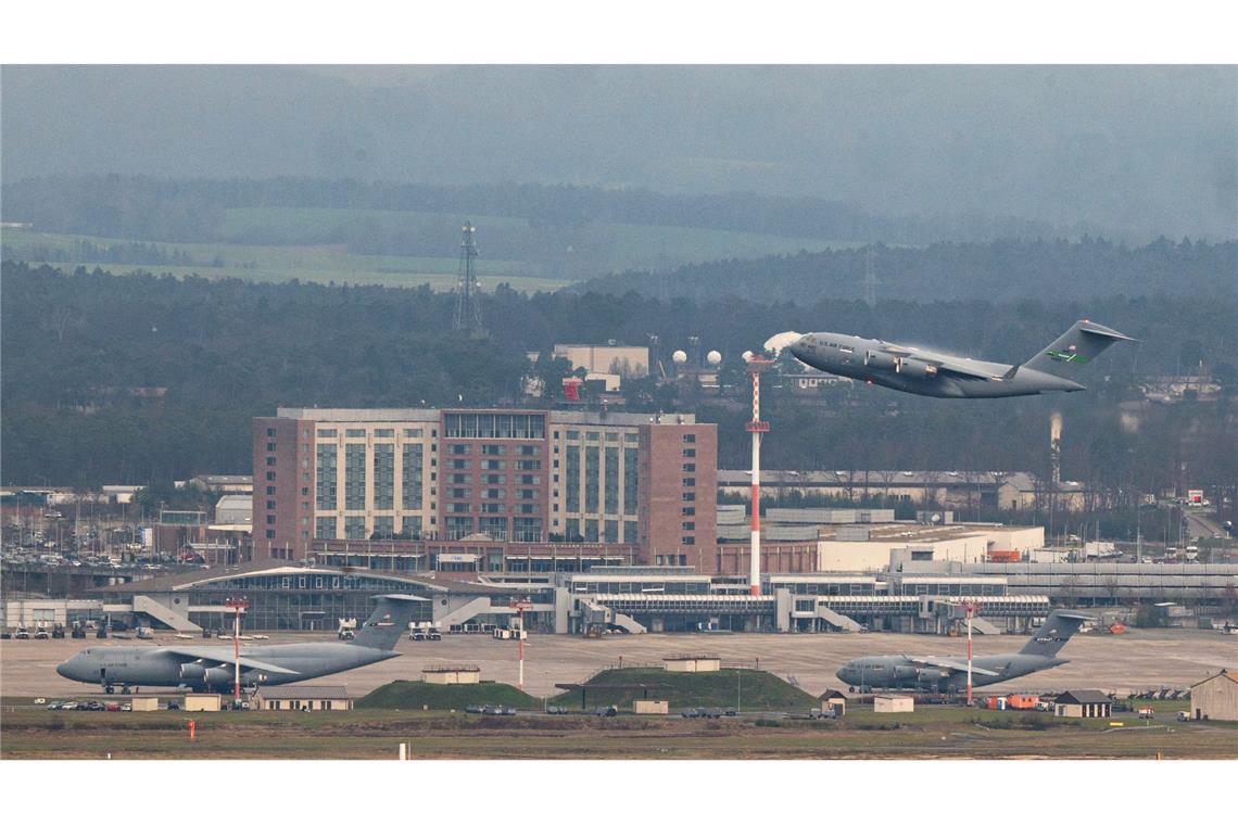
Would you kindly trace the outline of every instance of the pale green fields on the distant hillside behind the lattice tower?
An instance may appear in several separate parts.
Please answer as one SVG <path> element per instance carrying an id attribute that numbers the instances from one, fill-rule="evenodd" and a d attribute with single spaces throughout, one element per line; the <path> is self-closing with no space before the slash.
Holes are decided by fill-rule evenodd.
<path id="1" fill-rule="evenodd" d="M 26 229 L 5 229 L 4 244 L 16 260 L 50 263 L 64 268 L 99 266 L 113 272 L 147 270 L 176 276 L 192 273 L 209 278 L 239 277 L 246 281 L 279 282 L 297 278 L 314 283 L 357 283 L 387 287 L 428 284 L 433 289 L 456 287 L 459 259 L 454 255 L 462 218 L 442 213 L 394 212 L 380 209 L 295 209 L 255 207 L 229 209 L 224 215 L 222 240 L 213 244 L 155 242 L 163 252 L 178 251 L 192 259 L 191 265 L 115 263 L 82 257 L 76 260 L 77 244 L 114 246 L 140 239 L 63 235 Z M 821 239 L 782 237 L 760 233 L 738 233 L 683 226 L 645 226 L 619 223 L 592 223 L 566 230 L 581 245 L 578 263 L 565 262 L 552 275 L 542 262 L 553 257 L 558 242 L 571 245 L 553 229 L 535 229 L 517 218 L 474 215 L 479 226 L 477 260 L 478 281 L 483 289 L 509 283 L 520 291 L 552 291 L 578 280 L 628 268 L 667 268 L 696 261 L 730 257 L 761 257 L 823 250 L 851 244 Z M 491 245 L 485 245 L 489 233 Z M 442 257 L 363 255 L 350 252 L 344 239 L 379 237 L 417 239 L 426 249 L 441 247 Z M 255 244 L 253 239 L 275 239 L 277 244 Z M 441 242 L 439 242 L 441 240 Z M 145 241 L 142 241 L 145 242 Z M 511 260 L 493 256 L 494 249 L 537 249 L 539 260 Z M 45 261 L 43 250 L 62 252 L 74 260 Z M 59 257 L 59 256 L 57 256 Z M 565 261 L 573 256 L 568 255 Z"/>

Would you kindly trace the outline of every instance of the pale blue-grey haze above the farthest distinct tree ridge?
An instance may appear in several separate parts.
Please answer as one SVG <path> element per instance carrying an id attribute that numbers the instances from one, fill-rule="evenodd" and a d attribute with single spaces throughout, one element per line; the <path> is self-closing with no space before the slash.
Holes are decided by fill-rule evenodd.
<path id="1" fill-rule="evenodd" d="M 1238 234 L 1236 67 L 5 67 L 2 174 L 812 195 Z"/>

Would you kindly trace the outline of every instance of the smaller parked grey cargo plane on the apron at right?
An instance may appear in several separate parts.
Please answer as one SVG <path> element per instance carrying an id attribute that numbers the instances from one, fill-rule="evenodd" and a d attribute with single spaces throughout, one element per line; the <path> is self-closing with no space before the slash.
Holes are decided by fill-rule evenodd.
<path id="1" fill-rule="evenodd" d="M 1080 625 L 1092 618 L 1084 613 L 1055 610 L 1018 653 L 972 657 L 972 685 L 983 686 L 1018 679 L 1029 673 L 1066 664 L 1057 652 Z M 838 669 L 839 679 L 863 690 L 903 688 L 925 693 L 951 693 L 967 688 L 967 659 L 942 656 L 865 656 Z"/>

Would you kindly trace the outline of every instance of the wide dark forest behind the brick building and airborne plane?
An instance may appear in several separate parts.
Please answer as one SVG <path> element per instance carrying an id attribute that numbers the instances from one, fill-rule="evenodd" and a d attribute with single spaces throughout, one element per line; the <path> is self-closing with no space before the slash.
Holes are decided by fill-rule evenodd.
<path id="1" fill-rule="evenodd" d="M 1047 419 L 1066 417 L 1063 476 L 1114 497 L 1180 479 L 1221 482 L 1238 468 L 1232 406 L 1141 402 L 1143 376 L 1203 357 L 1234 393 L 1236 302 L 1192 296 L 1066 301 L 822 298 L 811 304 L 718 296 L 701 302 L 566 292 L 483 294 L 488 339 L 451 330 L 454 297 L 428 288 L 250 283 L 5 261 L 0 272 L 4 484 L 150 484 L 248 472 L 250 422 L 276 407 L 542 403 L 521 397 L 539 372 L 553 395 L 566 372 L 555 343 L 649 344 L 723 354 L 721 382 L 631 381 L 630 408 L 695 411 L 719 425 L 719 464 L 744 466 L 748 416 L 739 354 L 784 329 L 837 329 L 1008 362 L 1023 361 L 1091 314 L 1140 340 L 1088 367 L 1088 392 L 957 402 L 858 386 L 764 400 L 771 468 L 1044 471 Z M 539 354 L 531 364 L 527 353 Z M 1224 369 L 1228 366 L 1228 371 Z M 655 374 L 659 370 L 655 366 Z"/>

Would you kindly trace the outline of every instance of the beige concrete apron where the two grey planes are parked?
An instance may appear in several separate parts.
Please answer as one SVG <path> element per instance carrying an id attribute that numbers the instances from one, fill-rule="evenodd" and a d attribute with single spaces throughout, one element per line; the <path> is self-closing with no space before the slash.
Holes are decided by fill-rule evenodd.
<path id="1" fill-rule="evenodd" d="M 327 641 L 333 636 L 272 633 L 270 642 Z M 1025 637 L 993 636 L 974 641 L 977 656 L 1010 653 Z M 56 665 L 85 647 L 100 644 L 176 644 L 171 635 L 155 642 L 99 642 L 50 639 L 0 642 L 0 694 L 6 696 L 64 696 L 90 688 L 56 674 Z M 193 644 L 210 643 L 193 641 Z M 215 642 L 232 651 L 230 643 Z M 483 679 L 516 682 L 516 644 L 485 636 L 446 636 L 442 642 L 400 642 L 397 659 L 324 677 L 307 684 L 347 684 L 365 694 L 394 679 L 420 679 L 427 664 L 477 664 Z M 834 672 L 847 659 L 881 653 L 963 656 L 964 642 L 937 636 L 900 633 L 766 635 L 654 633 L 586 639 L 574 636 L 531 636 L 525 646 L 526 689 L 537 696 L 557 693 L 557 682 L 579 682 L 592 673 L 624 662 L 661 663 L 673 653 L 714 653 L 724 662 L 760 659 L 760 667 L 780 677 L 795 677 L 812 694 L 846 688 Z M 1041 691 L 1065 688 L 1136 690 L 1154 686 L 1186 688 L 1219 670 L 1238 670 L 1238 637 L 1206 631 L 1140 631 L 1124 636 L 1078 636 L 1062 654 L 1070 664 L 1005 683 L 1011 690 Z"/>

